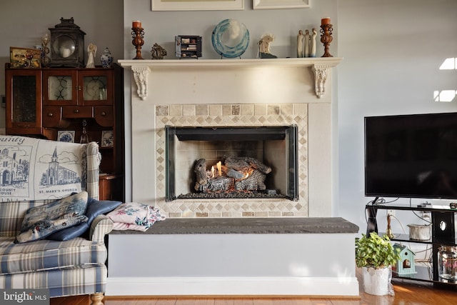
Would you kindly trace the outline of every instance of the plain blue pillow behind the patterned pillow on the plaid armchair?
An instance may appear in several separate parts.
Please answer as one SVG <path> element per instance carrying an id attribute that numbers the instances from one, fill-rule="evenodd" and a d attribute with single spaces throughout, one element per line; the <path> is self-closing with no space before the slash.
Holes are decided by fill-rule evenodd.
<path id="1" fill-rule="evenodd" d="M 71 226 L 71 228 L 67 228 L 56 233 L 53 233 L 46 237 L 46 239 L 52 239 L 54 241 L 68 241 L 69 239 L 74 239 L 86 233 L 87 230 L 91 227 L 92 221 L 94 221 L 96 216 L 101 214 L 108 213 L 116 209 L 119 205 L 121 205 L 121 201 L 111 201 L 111 200 L 96 200 L 93 198 L 89 198 L 87 200 L 87 209 L 86 209 L 86 216 L 87 221 L 83 222 L 82 224 L 78 224 L 76 226 Z"/>

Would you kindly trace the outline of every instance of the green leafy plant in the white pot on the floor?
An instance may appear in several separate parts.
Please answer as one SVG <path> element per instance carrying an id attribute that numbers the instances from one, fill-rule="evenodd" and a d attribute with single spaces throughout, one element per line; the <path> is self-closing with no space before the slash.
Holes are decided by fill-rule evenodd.
<path id="1" fill-rule="evenodd" d="M 400 259 L 400 249 L 394 249 L 387 235 L 378 236 L 371 232 L 356 238 L 356 265 L 382 269 L 395 264 Z"/>

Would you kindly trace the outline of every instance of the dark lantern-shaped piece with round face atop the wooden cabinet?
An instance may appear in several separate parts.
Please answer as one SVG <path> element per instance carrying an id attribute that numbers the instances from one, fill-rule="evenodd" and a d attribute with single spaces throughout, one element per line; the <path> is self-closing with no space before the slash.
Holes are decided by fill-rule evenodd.
<path id="1" fill-rule="evenodd" d="M 74 19 L 60 19 L 51 31 L 51 66 L 84 66 L 84 31 Z"/>

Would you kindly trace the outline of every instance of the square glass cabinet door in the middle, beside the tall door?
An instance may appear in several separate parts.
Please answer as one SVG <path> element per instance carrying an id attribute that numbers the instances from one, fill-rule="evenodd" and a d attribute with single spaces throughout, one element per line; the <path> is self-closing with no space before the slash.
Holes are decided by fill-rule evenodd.
<path id="1" fill-rule="evenodd" d="M 81 87 L 77 84 L 76 70 L 62 69 L 44 71 L 43 104 L 48 105 L 76 105 L 77 92 Z"/>

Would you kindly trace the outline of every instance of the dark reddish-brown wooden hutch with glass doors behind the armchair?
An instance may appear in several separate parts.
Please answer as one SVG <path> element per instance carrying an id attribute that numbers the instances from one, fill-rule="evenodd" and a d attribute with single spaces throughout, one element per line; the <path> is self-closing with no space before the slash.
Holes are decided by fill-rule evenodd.
<path id="1" fill-rule="evenodd" d="M 124 72 L 13 69 L 6 64 L 6 134 L 99 143 L 100 199 L 124 201 Z"/>

